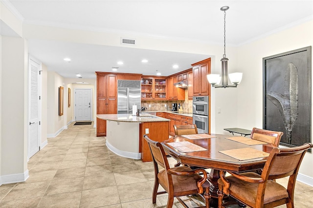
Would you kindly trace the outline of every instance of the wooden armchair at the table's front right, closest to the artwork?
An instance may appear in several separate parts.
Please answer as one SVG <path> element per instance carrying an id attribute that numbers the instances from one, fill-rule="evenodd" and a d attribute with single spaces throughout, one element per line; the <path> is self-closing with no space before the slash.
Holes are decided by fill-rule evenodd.
<path id="1" fill-rule="evenodd" d="M 311 143 L 306 143 L 291 148 L 273 148 L 261 175 L 229 172 L 231 175 L 225 177 L 225 171 L 220 171 L 218 207 L 227 205 L 222 205 L 224 194 L 227 194 L 251 208 L 273 208 L 283 204 L 294 208 L 293 191 L 298 170 L 305 153 L 312 147 Z M 287 189 L 273 181 L 287 176 Z"/>

